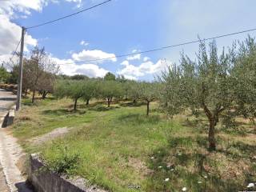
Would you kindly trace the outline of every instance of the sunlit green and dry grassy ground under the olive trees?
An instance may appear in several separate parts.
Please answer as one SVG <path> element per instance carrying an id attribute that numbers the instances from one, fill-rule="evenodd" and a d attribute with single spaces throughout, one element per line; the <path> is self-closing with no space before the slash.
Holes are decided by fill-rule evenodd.
<path id="1" fill-rule="evenodd" d="M 81 102 L 82 103 L 82 102 Z M 218 126 L 218 150 L 207 151 L 207 122 L 181 114 L 168 119 L 152 103 L 92 102 L 73 112 L 72 101 L 24 101 L 12 127 L 24 149 L 38 152 L 58 173 L 80 175 L 110 191 L 238 191 L 256 182 L 256 136 L 250 123 Z M 60 128 L 62 138 L 34 145 L 32 138 Z M 244 130 L 242 127 L 245 127 Z M 248 130 L 248 131 L 246 131 Z"/>

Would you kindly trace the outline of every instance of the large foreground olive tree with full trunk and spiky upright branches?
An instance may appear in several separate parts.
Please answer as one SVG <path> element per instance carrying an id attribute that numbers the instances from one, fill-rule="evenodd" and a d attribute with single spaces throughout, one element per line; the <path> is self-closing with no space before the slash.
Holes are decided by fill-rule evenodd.
<path id="1" fill-rule="evenodd" d="M 162 74 L 165 83 L 164 106 L 169 114 L 182 110 L 203 110 L 209 122 L 209 150 L 216 150 L 215 126 L 224 110 L 234 106 L 234 78 L 230 76 L 232 65 L 230 55 L 224 49 L 218 57 L 215 42 L 206 50 L 205 42 L 200 42 L 197 61 L 182 54 L 179 66 L 174 66 Z"/>

